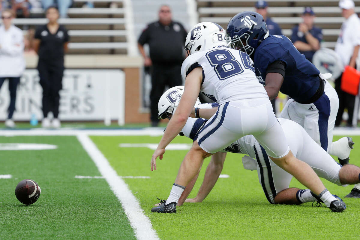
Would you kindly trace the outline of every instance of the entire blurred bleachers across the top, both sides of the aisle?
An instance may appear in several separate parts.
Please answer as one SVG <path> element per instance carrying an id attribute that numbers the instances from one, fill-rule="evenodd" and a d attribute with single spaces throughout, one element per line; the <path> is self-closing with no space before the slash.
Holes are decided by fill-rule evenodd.
<path id="1" fill-rule="evenodd" d="M 59 20 L 67 27 L 71 36 L 69 54 L 136 55 L 136 39 L 145 24 L 156 19 L 159 6 L 158 2 L 150 4 L 151 1 L 146 1 L 144 4 L 143 1 L 95 0 L 94 8 L 83 8 L 82 5 L 86 3 L 86 0 L 73 2 L 72 8 L 68 9 L 69 18 Z M 230 18 L 235 14 L 255 10 L 256 0 L 194 0 L 194 2 L 197 8 L 193 11 L 189 11 L 190 1 L 171 2 L 172 5 L 175 4 L 174 19 L 183 21 L 186 28 L 190 28 L 194 21 L 184 19 L 189 19 L 192 15 L 199 22 L 216 22 L 226 28 Z M 280 25 L 283 34 L 288 37 L 291 36 L 293 26 L 302 22 L 303 8 L 311 6 L 316 13 L 316 26 L 323 28 L 322 46 L 330 48 L 335 46 L 343 22 L 338 0 L 314 2 L 268 0 L 268 2 L 270 17 Z M 360 0 L 355 0 L 355 2 L 360 3 Z M 116 7 L 113 7 L 114 3 Z M 147 11 L 141 9 L 141 6 L 145 5 Z M 196 10 L 197 13 L 195 13 Z M 360 7 L 356 7 L 355 11 L 360 12 Z M 46 19 L 43 18 L 44 9 L 31 9 L 31 17 L 14 19 L 14 23 L 23 29 L 36 28 L 46 23 Z"/>

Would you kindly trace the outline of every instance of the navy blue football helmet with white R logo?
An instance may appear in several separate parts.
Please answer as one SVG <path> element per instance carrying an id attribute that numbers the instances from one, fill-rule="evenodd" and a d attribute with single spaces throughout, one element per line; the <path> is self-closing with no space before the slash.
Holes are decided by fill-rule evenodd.
<path id="1" fill-rule="evenodd" d="M 251 11 L 238 13 L 231 18 L 226 32 L 229 45 L 249 55 L 269 36 L 262 16 Z"/>

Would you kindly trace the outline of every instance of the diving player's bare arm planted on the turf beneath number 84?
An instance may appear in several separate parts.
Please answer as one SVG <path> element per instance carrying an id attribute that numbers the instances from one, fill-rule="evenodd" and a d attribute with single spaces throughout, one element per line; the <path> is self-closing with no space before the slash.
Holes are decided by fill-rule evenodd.
<path id="1" fill-rule="evenodd" d="M 222 168 L 224 167 L 225 158 L 226 158 L 226 153 L 220 153 L 220 152 L 217 152 L 211 156 L 210 163 L 206 168 L 204 180 L 201 184 L 198 194 L 196 195 L 195 198 L 186 199 L 185 202 L 200 203 L 206 198 L 206 196 L 215 186 L 216 181 L 220 176 Z M 188 188 L 188 186 L 186 186 L 186 188 Z M 190 194 L 190 191 L 188 195 Z"/>

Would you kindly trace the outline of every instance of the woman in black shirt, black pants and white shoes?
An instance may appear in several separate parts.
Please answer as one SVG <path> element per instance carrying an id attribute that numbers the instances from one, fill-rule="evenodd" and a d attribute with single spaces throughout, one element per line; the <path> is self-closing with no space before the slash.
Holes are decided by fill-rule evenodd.
<path id="1" fill-rule="evenodd" d="M 59 12 L 54 6 L 46 10 L 49 22 L 40 26 L 35 32 L 34 49 L 39 55 L 37 70 L 42 87 L 42 127 L 50 127 L 48 113 L 52 112 L 54 119 L 51 125 L 60 127 L 59 91 L 62 89 L 64 74 L 64 54 L 68 50 L 68 31 L 58 23 Z"/>

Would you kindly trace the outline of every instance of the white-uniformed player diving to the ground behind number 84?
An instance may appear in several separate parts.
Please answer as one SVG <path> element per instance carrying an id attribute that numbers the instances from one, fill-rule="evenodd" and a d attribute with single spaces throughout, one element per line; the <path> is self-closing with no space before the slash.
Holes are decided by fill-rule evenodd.
<path id="1" fill-rule="evenodd" d="M 159 118 L 171 118 L 176 110 L 177 103 L 179 103 L 179 97 L 181 98 L 183 89 L 184 86 L 172 87 L 161 96 L 158 103 Z M 171 103 L 167 99 L 167 95 L 170 93 L 177 96 L 175 103 Z M 200 115 L 208 118 L 216 112 L 218 106 L 219 104 L 217 103 L 201 104 L 199 100 L 195 103 L 195 107 L 201 109 L 199 111 Z M 202 114 L 204 114 L 204 116 Z M 199 118 L 193 117 L 192 113 L 186 121 L 184 128 L 181 130 L 180 135 L 185 135 L 192 140 L 196 140 L 198 132 L 207 120 L 200 116 L 198 116 Z M 308 163 L 319 177 L 323 177 L 340 186 L 360 182 L 359 167 L 351 164 L 342 167 L 312 140 L 309 134 L 307 134 L 299 124 L 283 118 L 278 118 L 278 120 L 284 130 L 291 151 L 298 159 Z M 197 196 L 194 199 L 187 199 L 186 201 L 201 202 L 206 198 L 219 178 L 224 165 L 226 152 L 243 153 L 249 156 L 243 158 L 244 168 L 257 170 L 259 183 L 264 190 L 266 199 L 271 204 L 301 204 L 310 201 L 319 201 L 316 195 L 311 193 L 309 189 L 289 188 L 292 175 L 271 161 L 266 155 L 264 148 L 260 146 L 252 135 L 244 136 L 224 150 L 221 150 L 221 152 L 212 155 Z M 186 186 L 177 205 L 183 204 L 186 197 L 190 194 L 197 177 L 198 174 Z M 317 206 L 319 205 L 321 204 L 317 204 Z"/>

